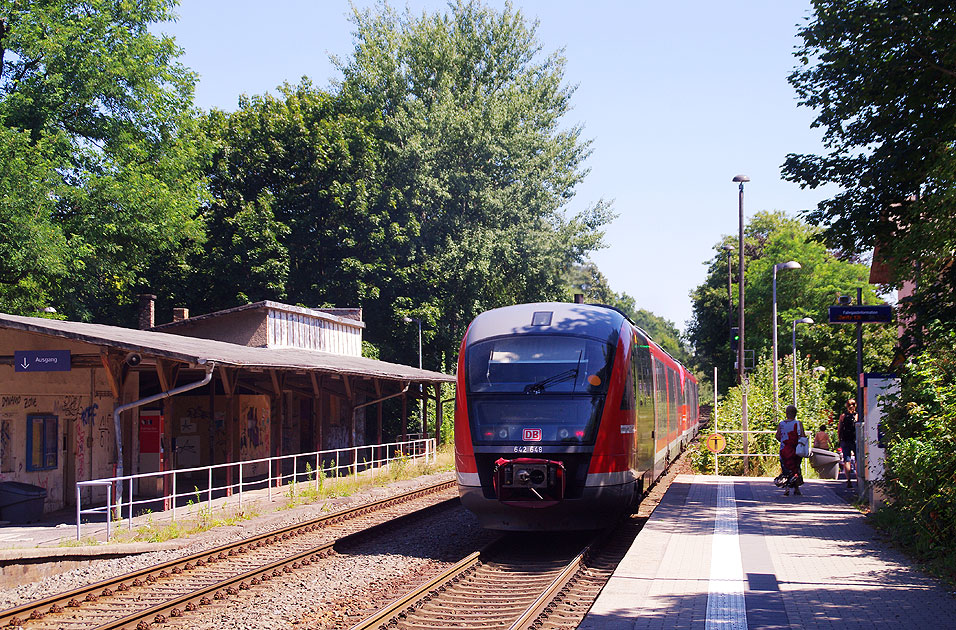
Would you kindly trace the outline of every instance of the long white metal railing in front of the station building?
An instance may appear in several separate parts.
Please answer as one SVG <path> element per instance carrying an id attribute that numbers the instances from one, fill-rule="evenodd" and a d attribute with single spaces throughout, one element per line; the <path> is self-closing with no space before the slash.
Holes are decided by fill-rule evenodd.
<path id="1" fill-rule="evenodd" d="M 213 464 L 211 466 L 199 466 L 194 468 L 180 468 L 175 470 L 166 470 L 159 472 L 137 473 L 134 475 L 122 475 L 116 477 L 104 477 L 101 479 L 92 479 L 88 481 L 76 482 L 76 539 L 80 540 L 80 524 L 84 514 L 106 514 L 106 539 L 110 538 L 110 521 L 113 512 L 116 511 L 119 520 L 122 520 L 124 509 L 128 511 L 127 529 L 133 528 L 134 507 L 140 504 L 163 502 L 164 510 L 170 510 L 171 518 L 176 521 L 176 503 L 177 499 L 185 497 L 196 497 L 196 503 L 199 503 L 201 495 L 206 495 L 206 505 L 212 508 L 213 493 L 216 491 L 224 492 L 226 497 L 238 494 L 238 507 L 242 508 L 242 495 L 244 491 L 261 490 L 263 487 L 269 490 L 269 501 L 273 500 L 273 487 L 281 488 L 288 480 L 291 483 L 299 483 L 300 478 L 306 475 L 306 481 L 313 481 L 315 489 L 318 491 L 322 478 L 347 477 L 349 475 L 358 475 L 364 471 L 374 471 L 386 468 L 392 462 L 400 459 L 411 461 L 424 459 L 426 462 L 434 463 L 436 460 L 436 440 L 435 438 L 406 440 L 404 442 L 389 442 L 385 444 L 368 444 L 364 446 L 353 446 L 349 448 L 330 449 L 324 451 L 312 451 L 309 453 L 294 453 L 290 455 L 280 455 L 277 457 L 263 457 L 240 462 L 229 462 L 225 464 Z M 368 458 L 362 458 L 367 453 Z M 360 461 L 361 458 L 361 461 Z M 283 473 L 283 463 L 292 460 L 291 474 Z M 306 469 L 299 469 L 299 461 L 306 461 Z M 312 465 L 313 461 L 314 467 Z M 259 477 L 258 467 L 264 464 L 267 468 L 265 476 L 246 480 L 243 476 L 250 466 L 256 467 L 256 477 Z M 214 471 L 228 471 L 229 468 L 237 468 L 239 472 L 238 481 L 226 483 L 220 486 L 213 485 Z M 360 470 L 361 469 L 361 470 Z M 274 474 L 276 473 L 276 474 Z M 178 492 L 176 488 L 177 478 L 184 475 L 206 475 L 207 486 L 203 490 L 194 489 L 189 492 Z M 169 490 L 165 491 L 161 497 L 149 497 L 135 500 L 133 497 L 133 482 L 142 479 L 170 479 Z M 228 475 L 226 477 L 228 479 Z M 113 496 L 119 496 L 118 492 L 113 492 L 115 485 L 127 484 L 127 496 L 129 501 L 123 501 L 122 504 L 113 503 Z M 165 484 L 164 484 L 165 485 Z M 106 505 L 83 509 L 82 496 L 80 490 L 84 487 L 106 487 Z M 237 492 L 238 490 L 238 492 Z M 165 506 L 169 506 L 168 508 Z"/>

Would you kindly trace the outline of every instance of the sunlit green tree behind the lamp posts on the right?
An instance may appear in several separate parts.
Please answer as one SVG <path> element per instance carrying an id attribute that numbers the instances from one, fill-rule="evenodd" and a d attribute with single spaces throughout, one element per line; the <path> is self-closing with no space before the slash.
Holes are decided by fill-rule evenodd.
<path id="1" fill-rule="evenodd" d="M 759 212 L 751 218 L 745 227 L 744 239 L 744 344 L 754 351 L 756 358 L 771 354 L 773 266 L 796 260 L 802 266 L 800 269 L 780 271 L 777 275 L 778 357 L 791 354 L 792 322 L 812 318 L 815 325 L 797 326 L 798 348 L 801 354 L 824 366 L 832 375 L 831 394 L 842 395 L 854 391 L 856 382 L 856 330 L 855 326 L 829 325 L 828 308 L 837 303 L 840 295 L 851 295 L 855 302 L 858 288 L 863 290 L 864 304 L 877 304 L 881 300 L 867 282 L 867 267 L 837 258 L 817 238 L 819 233 L 819 228 L 778 212 Z M 692 294 L 694 316 L 688 337 L 704 374 L 716 365 L 719 373 L 729 376 L 733 365 L 727 334 L 727 256 L 722 249 L 730 241 L 730 237 L 725 237 L 714 246 L 707 278 Z M 736 270 L 736 261 L 732 264 Z M 736 309 L 736 277 L 733 288 Z M 893 357 L 895 329 L 889 325 L 868 324 L 863 327 L 863 334 L 864 370 L 885 370 Z M 718 385 L 722 384 L 720 389 L 726 391 L 726 386 L 733 381 L 724 378 Z"/>

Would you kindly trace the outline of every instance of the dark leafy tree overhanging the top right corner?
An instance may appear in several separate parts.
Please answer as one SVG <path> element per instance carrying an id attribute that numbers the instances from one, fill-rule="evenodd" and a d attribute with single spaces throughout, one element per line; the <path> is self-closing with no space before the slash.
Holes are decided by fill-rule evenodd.
<path id="1" fill-rule="evenodd" d="M 824 155 L 784 177 L 841 192 L 808 213 L 845 252 L 879 245 L 897 284 L 917 281 L 914 330 L 956 322 L 956 13 L 938 0 L 814 0 L 790 76 Z"/>

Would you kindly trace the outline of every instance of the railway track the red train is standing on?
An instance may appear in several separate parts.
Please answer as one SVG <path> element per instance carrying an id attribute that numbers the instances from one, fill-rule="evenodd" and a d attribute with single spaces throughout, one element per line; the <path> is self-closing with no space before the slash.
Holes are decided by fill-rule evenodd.
<path id="1" fill-rule="evenodd" d="M 671 481 L 683 455 L 639 511 L 590 541 L 511 535 L 378 610 L 352 630 L 571 630 L 587 614 Z M 574 549 L 567 547 L 574 544 Z M 575 551 L 576 549 L 576 551 Z"/>

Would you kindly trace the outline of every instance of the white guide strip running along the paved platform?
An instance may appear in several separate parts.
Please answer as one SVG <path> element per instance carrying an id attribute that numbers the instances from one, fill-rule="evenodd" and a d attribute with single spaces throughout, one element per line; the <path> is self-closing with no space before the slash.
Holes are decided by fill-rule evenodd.
<path id="1" fill-rule="evenodd" d="M 729 480 L 721 480 L 717 486 L 717 514 L 704 627 L 706 630 L 747 630 L 744 569 L 737 537 L 737 503 L 734 484 Z"/>

